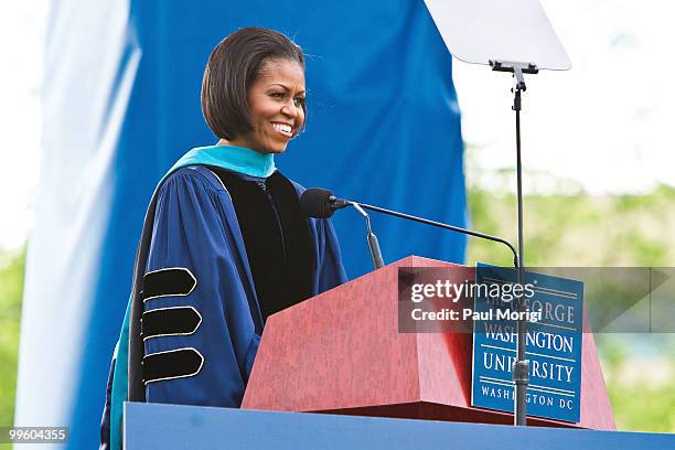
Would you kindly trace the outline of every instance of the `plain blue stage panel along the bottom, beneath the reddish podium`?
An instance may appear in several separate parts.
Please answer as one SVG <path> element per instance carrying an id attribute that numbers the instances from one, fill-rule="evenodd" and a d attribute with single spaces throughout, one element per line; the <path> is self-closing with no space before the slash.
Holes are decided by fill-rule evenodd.
<path id="1" fill-rule="evenodd" d="M 675 435 L 127 403 L 125 448 L 672 450 Z"/>

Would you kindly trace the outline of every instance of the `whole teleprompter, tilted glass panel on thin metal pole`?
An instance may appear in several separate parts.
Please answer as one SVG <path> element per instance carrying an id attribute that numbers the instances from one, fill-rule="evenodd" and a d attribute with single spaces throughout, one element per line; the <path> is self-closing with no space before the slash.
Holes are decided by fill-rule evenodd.
<path id="1" fill-rule="evenodd" d="M 490 64 L 493 71 L 510 72 L 515 78 L 513 109 L 516 114 L 518 185 L 517 282 L 525 279 L 523 258 L 523 191 L 521 167 L 521 95 L 523 74 L 539 69 L 569 71 L 571 62 L 556 35 L 539 0 L 425 0 L 439 32 L 459 61 Z M 499 11 L 495 13 L 495 11 Z M 483 39 L 475 39 L 481 36 Z M 525 61 L 529 63 L 524 63 Z M 536 64 L 533 64 L 536 63 Z M 517 299 L 518 312 L 525 310 Z M 519 314 L 523 317 L 524 314 Z M 515 425 L 526 425 L 528 362 L 525 357 L 526 321 L 518 321 L 518 353 L 512 374 L 516 390 Z"/>

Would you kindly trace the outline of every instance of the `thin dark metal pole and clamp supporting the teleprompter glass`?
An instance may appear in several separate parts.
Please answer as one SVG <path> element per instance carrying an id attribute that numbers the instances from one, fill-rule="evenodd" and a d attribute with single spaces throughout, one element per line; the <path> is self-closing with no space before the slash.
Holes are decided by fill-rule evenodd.
<path id="1" fill-rule="evenodd" d="M 513 107 L 516 118 L 516 184 L 517 184 L 517 202 L 518 202 L 518 266 L 517 266 L 517 283 L 523 285 L 525 281 L 525 257 L 524 257 L 524 239 L 523 239 L 523 164 L 521 158 L 521 106 L 522 93 L 527 89 L 525 86 L 524 73 L 536 74 L 538 72 L 535 64 L 516 63 L 506 61 L 490 61 L 493 71 L 511 72 L 515 81 L 513 92 Z M 517 356 L 513 363 L 513 383 L 515 385 L 515 411 L 514 425 L 527 425 L 527 385 L 529 384 L 529 361 L 525 353 L 525 343 L 527 339 L 527 320 L 524 318 L 526 308 L 525 302 L 521 298 L 518 300 L 519 319 L 517 321 Z"/>

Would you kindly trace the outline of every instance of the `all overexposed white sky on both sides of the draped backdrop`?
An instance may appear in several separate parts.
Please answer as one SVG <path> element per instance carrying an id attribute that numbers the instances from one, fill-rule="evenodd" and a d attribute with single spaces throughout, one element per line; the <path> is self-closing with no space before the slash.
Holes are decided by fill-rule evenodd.
<path id="1" fill-rule="evenodd" d="M 527 76 L 523 164 L 527 192 L 647 192 L 675 185 L 675 2 L 543 0 L 572 62 Z M 40 86 L 49 2 L 0 2 L 0 248 L 33 223 L 41 151 Z M 493 189 L 515 165 L 510 75 L 454 61 L 468 183 Z"/>

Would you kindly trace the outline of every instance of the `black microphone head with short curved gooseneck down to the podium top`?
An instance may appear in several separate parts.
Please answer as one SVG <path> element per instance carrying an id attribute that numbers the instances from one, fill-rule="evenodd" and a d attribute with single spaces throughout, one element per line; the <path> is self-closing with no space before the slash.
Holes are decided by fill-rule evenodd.
<path id="1" fill-rule="evenodd" d="M 331 191 L 319 188 L 308 189 L 302 193 L 302 195 L 300 195 L 300 207 L 309 217 L 328 218 L 332 216 L 335 211 L 346 206 L 354 206 L 356 211 L 358 211 L 358 213 L 365 218 L 366 228 L 368 232 L 368 249 L 371 250 L 373 266 L 375 269 L 384 267 L 384 259 L 382 258 L 377 236 L 375 236 L 375 233 L 373 233 L 373 229 L 371 228 L 371 216 L 368 216 L 368 213 L 363 211 L 358 203 L 338 199 Z"/>

